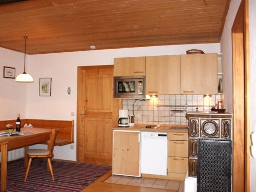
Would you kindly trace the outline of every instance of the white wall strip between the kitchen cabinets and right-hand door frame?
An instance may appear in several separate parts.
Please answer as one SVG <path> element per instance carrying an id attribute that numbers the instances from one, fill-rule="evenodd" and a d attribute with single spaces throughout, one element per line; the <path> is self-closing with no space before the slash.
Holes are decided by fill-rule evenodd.
<path id="1" fill-rule="evenodd" d="M 223 66 L 223 93 L 224 93 L 224 108 L 231 112 L 233 111 L 233 86 L 232 86 L 232 38 L 231 29 L 234 18 L 237 15 L 241 0 L 231 0 L 229 10 L 226 16 L 224 29 L 221 36 L 221 53 Z"/>

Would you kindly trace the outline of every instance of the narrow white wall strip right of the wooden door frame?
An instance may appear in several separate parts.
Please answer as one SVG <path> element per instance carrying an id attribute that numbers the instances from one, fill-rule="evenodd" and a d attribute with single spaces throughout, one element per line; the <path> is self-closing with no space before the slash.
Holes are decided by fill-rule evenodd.
<path id="1" fill-rule="evenodd" d="M 251 91 L 251 131 L 256 132 L 256 118 L 254 111 L 256 109 L 256 1 L 249 1 L 249 33 L 250 33 L 250 91 Z M 253 143 L 255 146 L 256 143 Z M 256 159 L 250 159 L 250 191 L 256 191 Z"/>

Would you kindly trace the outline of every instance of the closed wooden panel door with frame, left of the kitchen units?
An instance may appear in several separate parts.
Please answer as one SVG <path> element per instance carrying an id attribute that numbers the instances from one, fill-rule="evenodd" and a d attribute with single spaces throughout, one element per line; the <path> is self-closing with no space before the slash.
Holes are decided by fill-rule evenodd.
<path id="1" fill-rule="evenodd" d="M 78 67 L 77 161 L 112 164 L 112 127 L 119 99 L 113 99 L 113 66 Z"/>

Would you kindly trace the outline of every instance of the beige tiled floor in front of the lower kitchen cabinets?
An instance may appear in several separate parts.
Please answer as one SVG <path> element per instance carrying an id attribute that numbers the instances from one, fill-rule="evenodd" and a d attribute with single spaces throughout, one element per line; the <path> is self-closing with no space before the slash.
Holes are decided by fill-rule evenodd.
<path id="1" fill-rule="evenodd" d="M 152 179 L 152 178 L 137 178 L 137 177 L 114 175 L 106 179 L 104 182 L 121 184 L 121 185 L 133 185 L 133 186 L 141 186 L 141 187 L 171 189 L 171 190 L 176 190 L 177 192 L 184 192 L 183 181 L 172 181 L 172 180 Z"/>

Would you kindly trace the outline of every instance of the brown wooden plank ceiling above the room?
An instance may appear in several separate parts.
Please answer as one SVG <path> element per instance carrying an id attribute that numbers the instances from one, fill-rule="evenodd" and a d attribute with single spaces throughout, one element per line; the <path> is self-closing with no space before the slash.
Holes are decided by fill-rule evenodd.
<path id="1" fill-rule="evenodd" d="M 42 54 L 219 42 L 230 0 L 31 0 L 0 5 L 0 47 Z"/>

